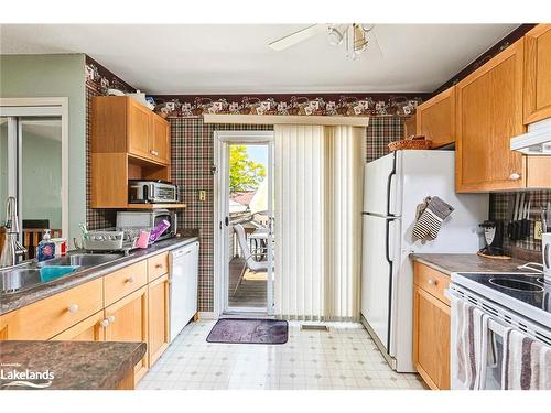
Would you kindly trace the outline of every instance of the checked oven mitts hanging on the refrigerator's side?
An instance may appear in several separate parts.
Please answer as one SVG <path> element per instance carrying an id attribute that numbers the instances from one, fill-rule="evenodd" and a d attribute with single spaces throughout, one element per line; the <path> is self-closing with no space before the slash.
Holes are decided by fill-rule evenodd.
<path id="1" fill-rule="evenodd" d="M 417 221 L 413 226 L 413 237 L 420 240 L 436 239 L 442 222 L 454 208 L 437 196 L 429 196 L 418 206 Z"/>

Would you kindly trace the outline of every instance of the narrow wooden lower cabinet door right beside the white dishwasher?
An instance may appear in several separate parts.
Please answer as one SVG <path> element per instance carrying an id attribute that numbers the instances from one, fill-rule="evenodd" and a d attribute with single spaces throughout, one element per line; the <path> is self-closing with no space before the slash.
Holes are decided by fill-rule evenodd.
<path id="1" fill-rule="evenodd" d="M 169 274 L 149 285 L 149 367 L 152 367 L 170 344 Z"/>

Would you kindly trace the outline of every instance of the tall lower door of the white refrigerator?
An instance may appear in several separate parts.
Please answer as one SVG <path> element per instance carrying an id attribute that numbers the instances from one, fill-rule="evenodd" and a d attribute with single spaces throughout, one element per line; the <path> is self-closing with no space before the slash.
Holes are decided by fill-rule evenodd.
<path id="1" fill-rule="evenodd" d="M 397 220 L 371 215 L 364 215 L 363 220 L 361 315 L 389 352 L 392 267 L 387 258 L 392 259 L 393 251 L 389 248 L 387 257 L 386 238 L 388 226 L 391 247 Z"/>

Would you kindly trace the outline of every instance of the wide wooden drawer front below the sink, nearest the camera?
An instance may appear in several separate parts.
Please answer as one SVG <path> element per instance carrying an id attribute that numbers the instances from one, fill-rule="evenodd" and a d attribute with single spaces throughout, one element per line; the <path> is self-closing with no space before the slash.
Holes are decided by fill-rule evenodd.
<path id="1" fill-rule="evenodd" d="M 2 338 L 50 339 L 101 308 L 102 279 L 97 279 L 3 315 Z"/>

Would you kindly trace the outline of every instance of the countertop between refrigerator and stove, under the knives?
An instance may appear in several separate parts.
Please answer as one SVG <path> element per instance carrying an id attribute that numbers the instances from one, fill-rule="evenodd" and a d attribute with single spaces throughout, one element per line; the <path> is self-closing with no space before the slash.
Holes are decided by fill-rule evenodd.
<path id="1" fill-rule="evenodd" d="M 476 253 L 412 253 L 410 258 L 447 275 L 452 272 L 530 272 L 517 268 L 527 261 L 493 260 Z"/>

